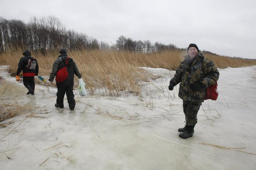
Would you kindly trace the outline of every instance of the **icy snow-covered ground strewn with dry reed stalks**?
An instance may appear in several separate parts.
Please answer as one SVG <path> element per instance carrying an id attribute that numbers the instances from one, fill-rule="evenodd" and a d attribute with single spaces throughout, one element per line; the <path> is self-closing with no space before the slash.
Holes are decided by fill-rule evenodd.
<path id="1" fill-rule="evenodd" d="M 168 90 L 174 72 L 147 69 L 162 77 L 144 83 L 142 98 L 74 90 L 71 111 L 66 100 L 64 109 L 54 107 L 55 88 L 37 85 L 26 95 L 0 66 L 0 81 L 12 87 L 2 97 L 34 106 L 27 113 L 34 116 L 1 122 L 14 121 L 0 128 L 0 169 L 255 169 L 256 66 L 219 69 L 218 100 L 203 103 L 189 139 L 178 137 L 185 118 L 179 85 Z"/>

